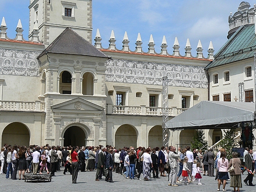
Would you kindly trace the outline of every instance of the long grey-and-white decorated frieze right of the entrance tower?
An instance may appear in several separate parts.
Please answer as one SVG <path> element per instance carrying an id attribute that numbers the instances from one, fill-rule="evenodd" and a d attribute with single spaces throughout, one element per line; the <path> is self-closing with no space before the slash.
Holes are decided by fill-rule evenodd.
<path id="1" fill-rule="evenodd" d="M 106 81 L 207 89 L 208 81 L 203 66 L 110 60 L 106 64 Z"/>

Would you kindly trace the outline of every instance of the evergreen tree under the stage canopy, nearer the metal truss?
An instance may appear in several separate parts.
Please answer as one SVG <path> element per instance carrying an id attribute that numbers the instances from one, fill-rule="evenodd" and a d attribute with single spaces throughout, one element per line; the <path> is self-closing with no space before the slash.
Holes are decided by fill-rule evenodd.
<path id="1" fill-rule="evenodd" d="M 196 130 L 196 135 L 193 136 L 193 141 L 194 142 L 191 142 L 192 149 L 201 149 L 202 151 L 208 150 L 209 145 L 208 141 L 205 140 L 203 129 Z"/>

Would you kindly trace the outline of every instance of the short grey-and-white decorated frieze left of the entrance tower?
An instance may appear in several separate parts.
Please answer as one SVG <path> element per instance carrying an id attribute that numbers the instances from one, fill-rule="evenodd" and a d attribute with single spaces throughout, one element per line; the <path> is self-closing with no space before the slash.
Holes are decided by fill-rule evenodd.
<path id="1" fill-rule="evenodd" d="M 40 52 L 0 49 L 0 74 L 39 77 Z"/>

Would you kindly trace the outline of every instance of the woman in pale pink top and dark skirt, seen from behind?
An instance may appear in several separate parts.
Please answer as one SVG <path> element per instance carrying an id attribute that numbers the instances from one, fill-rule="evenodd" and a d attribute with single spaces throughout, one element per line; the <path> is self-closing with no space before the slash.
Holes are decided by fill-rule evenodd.
<path id="1" fill-rule="evenodd" d="M 217 167 L 219 169 L 219 182 L 218 182 L 218 190 L 220 191 L 221 182 L 223 181 L 223 192 L 226 192 L 225 186 L 226 186 L 226 180 L 229 179 L 228 173 L 227 173 L 227 167 L 228 167 L 228 160 L 226 159 L 225 152 L 221 153 L 221 157 L 218 160 Z"/>

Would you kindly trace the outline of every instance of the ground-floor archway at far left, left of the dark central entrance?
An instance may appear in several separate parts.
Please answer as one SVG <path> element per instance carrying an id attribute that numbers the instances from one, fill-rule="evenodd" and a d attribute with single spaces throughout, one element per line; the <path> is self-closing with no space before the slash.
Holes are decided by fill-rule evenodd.
<path id="1" fill-rule="evenodd" d="M 9 124 L 3 129 L 2 132 L 2 143 L 10 145 L 24 145 L 26 147 L 30 146 L 30 132 L 27 126 L 22 123 L 14 122 Z M 35 143 L 36 144 L 36 143 Z"/>

